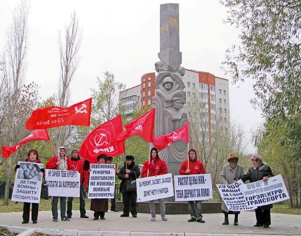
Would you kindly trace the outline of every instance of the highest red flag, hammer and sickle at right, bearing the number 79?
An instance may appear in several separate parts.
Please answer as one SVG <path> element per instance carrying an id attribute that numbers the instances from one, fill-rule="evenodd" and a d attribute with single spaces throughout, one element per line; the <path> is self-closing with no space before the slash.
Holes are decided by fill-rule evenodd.
<path id="1" fill-rule="evenodd" d="M 92 98 L 69 107 L 49 106 L 36 109 L 26 123 L 26 129 L 48 129 L 59 126 L 90 126 Z"/>

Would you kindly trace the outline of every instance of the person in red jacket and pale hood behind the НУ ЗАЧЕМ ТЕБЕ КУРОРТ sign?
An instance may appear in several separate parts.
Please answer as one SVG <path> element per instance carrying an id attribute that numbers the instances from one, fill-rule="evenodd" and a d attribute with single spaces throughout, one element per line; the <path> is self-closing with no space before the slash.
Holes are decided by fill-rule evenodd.
<path id="1" fill-rule="evenodd" d="M 46 169 L 68 170 L 69 157 L 66 156 L 66 149 L 59 147 L 58 156 L 51 157 L 46 163 Z M 61 219 L 63 221 L 69 221 L 70 219 L 66 215 L 66 197 L 53 196 L 52 197 L 52 220 L 58 222 L 58 201 L 61 201 Z"/>

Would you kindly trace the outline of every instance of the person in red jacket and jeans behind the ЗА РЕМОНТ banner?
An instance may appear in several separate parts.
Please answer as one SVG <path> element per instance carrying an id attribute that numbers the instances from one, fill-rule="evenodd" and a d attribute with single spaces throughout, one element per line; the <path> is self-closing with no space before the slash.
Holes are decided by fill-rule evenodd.
<path id="1" fill-rule="evenodd" d="M 165 161 L 161 160 L 158 156 L 157 148 L 152 148 L 150 150 L 150 159 L 145 161 L 142 168 L 141 177 L 150 177 L 157 175 L 167 174 L 167 165 Z M 164 198 L 158 199 L 160 203 L 160 213 L 162 220 L 167 220 L 165 216 L 165 203 Z M 150 214 L 152 214 L 152 221 L 156 220 L 155 212 L 155 200 L 149 201 Z"/>

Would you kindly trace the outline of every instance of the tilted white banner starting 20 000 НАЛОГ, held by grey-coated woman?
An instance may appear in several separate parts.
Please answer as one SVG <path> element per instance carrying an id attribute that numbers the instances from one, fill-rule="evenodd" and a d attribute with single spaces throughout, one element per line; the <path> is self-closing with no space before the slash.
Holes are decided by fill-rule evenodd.
<path id="1" fill-rule="evenodd" d="M 243 193 L 242 180 L 236 181 L 234 184 L 217 184 L 217 188 L 221 194 L 227 208 L 232 211 L 251 210 L 253 207 L 248 207 Z"/>

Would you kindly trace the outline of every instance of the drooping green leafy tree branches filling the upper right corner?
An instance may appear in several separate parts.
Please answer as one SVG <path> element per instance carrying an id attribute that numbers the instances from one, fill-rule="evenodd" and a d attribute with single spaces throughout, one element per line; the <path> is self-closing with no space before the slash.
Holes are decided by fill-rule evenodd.
<path id="1" fill-rule="evenodd" d="M 296 0 L 221 0 L 226 23 L 240 30 L 241 45 L 226 51 L 234 83 L 252 79 L 266 117 L 301 113 L 301 4 Z"/>

